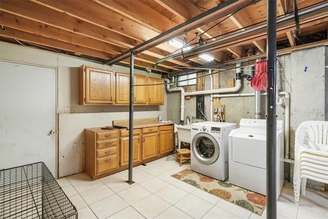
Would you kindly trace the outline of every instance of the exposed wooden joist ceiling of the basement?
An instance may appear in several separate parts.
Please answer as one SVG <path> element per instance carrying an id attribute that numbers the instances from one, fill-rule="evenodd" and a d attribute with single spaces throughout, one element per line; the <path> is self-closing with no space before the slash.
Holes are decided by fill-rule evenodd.
<path id="1" fill-rule="evenodd" d="M 328 1 L 295 2 L 301 13 Z M 211 17 L 213 21 L 192 29 L 187 25 L 183 29 L 187 31 L 181 29 L 177 36 L 191 48 L 201 48 L 203 41 L 208 44 L 207 49 L 182 55 L 168 38 L 138 52 L 135 66 L 165 75 L 265 53 L 266 28 L 256 28 L 266 26 L 267 0 L 0 0 L 0 40 L 108 63 L 117 55 L 224 4 L 228 6 Z M 229 8 L 232 4 L 234 8 Z M 313 42 L 327 44 L 327 9 L 300 15 L 298 30 L 295 18 L 278 24 L 277 49 L 293 49 Z M 293 0 L 277 0 L 277 19 L 294 15 L 295 11 Z M 201 59 L 199 54 L 203 52 L 214 56 L 214 60 Z M 172 53 L 177 55 L 163 59 Z M 125 58 L 117 64 L 129 63 L 129 58 Z"/>

